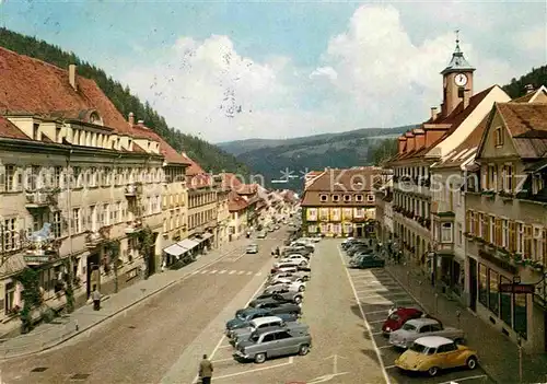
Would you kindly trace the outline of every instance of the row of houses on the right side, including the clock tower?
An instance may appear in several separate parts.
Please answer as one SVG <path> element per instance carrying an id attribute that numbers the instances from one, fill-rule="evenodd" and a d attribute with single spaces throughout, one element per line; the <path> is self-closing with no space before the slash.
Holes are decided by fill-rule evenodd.
<path id="1" fill-rule="evenodd" d="M 398 138 L 376 190 L 379 235 L 528 351 L 547 350 L 547 89 L 478 93 L 458 42 L 443 102 Z"/>

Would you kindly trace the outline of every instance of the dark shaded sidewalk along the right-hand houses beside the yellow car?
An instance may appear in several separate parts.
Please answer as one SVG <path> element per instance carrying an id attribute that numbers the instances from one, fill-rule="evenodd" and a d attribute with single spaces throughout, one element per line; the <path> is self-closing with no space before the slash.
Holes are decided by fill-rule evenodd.
<path id="1" fill-rule="evenodd" d="M 482 369 L 500 384 L 519 383 L 519 349 L 501 333 L 491 328 L 461 303 L 437 293 L 431 281 L 405 265 L 386 265 L 389 272 L 420 305 L 445 325 L 458 327 L 466 334 L 469 347 L 479 354 Z M 456 313 L 461 317 L 457 319 Z M 529 356 L 523 352 L 523 383 L 547 382 L 547 357 Z"/>

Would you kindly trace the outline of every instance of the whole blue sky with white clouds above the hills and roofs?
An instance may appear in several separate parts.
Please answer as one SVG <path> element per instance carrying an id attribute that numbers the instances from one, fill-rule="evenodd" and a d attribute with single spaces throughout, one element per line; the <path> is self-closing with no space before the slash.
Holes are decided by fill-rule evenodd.
<path id="1" fill-rule="evenodd" d="M 211 142 L 422 121 L 456 30 L 475 92 L 547 63 L 543 0 L 0 0 L 0 24 L 95 63 Z"/>

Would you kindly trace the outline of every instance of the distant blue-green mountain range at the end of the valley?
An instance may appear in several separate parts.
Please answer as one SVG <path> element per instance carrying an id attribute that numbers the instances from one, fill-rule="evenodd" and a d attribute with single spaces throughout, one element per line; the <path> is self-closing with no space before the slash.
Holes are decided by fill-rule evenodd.
<path id="1" fill-rule="evenodd" d="M 372 164 L 371 148 L 416 126 L 362 128 L 284 140 L 248 139 L 218 146 L 264 177 L 271 187 L 300 190 L 306 171 Z"/>

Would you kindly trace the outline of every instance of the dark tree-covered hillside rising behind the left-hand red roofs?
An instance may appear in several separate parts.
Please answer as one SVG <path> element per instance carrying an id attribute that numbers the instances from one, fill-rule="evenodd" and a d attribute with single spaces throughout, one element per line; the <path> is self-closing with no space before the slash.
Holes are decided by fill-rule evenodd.
<path id="1" fill-rule="evenodd" d="M 101 68 L 81 60 L 73 53 L 67 53 L 60 47 L 44 40 L 24 36 L 2 27 L 0 27 L 0 46 L 60 68 L 68 68 L 69 65 L 75 63 L 78 72 L 82 77 L 93 79 L 124 116 L 128 116 L 130 112 L 135 113 L 139 119 L 144 120 L 148 127 L 158 132 L 174 149 L 185 151 L 203 170 L 213 172 L 225 170 L 238 174 L 248 174 L 247 166 L 237 161 L 232 154 L 196 136 L 186 135 L 170 127 L 165 119 L 148 103 L 142 103 L 139 97 L 131 94 L 127 85 L 124 86 L 107 75 Z M 184 127 L 179 128 L 184 129 Z"/>

